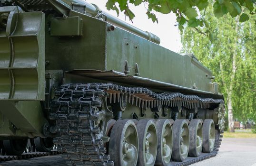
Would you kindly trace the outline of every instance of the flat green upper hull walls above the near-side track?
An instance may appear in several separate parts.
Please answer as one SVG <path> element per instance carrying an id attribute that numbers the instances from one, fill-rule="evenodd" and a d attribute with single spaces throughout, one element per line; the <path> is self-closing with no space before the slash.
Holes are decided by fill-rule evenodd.
<path id="1" fill-rule="evenodd" d="M 70 16 L 78 15 L 70 13 Z M 51 37 L 46 34 L 45 58 L 49 61 L 46 69 L 66 72 L 113 70 L 124 75 L 139 75 L 164 83 L 211 91 L 212 73 L 194 56 L 179 55 L 122 28 L 109 31 L 111 24 L 96 18 L 82 14 L 79 17 L 83 19 L 84 37 Z"/>

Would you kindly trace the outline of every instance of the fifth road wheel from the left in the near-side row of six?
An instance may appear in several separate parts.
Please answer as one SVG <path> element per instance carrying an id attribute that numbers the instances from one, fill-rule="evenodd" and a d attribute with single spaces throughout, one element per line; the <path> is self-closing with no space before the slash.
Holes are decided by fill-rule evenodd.
<path id="1" fill-rule="evenodd" d="M 189 123 L 189 156 L 198 157 L 202 153 L 203 147 L 203 126 L 201 120 L 191 120 Z"/>

